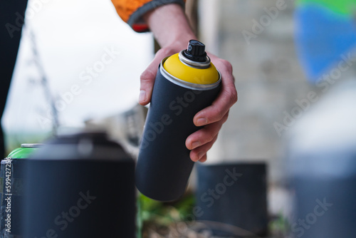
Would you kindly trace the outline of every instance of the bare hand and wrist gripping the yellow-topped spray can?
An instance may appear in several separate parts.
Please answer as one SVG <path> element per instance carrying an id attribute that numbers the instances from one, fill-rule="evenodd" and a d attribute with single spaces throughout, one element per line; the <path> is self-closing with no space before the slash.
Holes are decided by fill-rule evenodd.
<path id="1" fill-rule="evenodd" d="M 197 36 L 194 35 L 189 26 L 183 9 L 177 4 L 159 6 L 157 9 L 145 14 L 144 19 L 161 49 L 156 53 L 150 66 L 141 75 L 139 98 L 141 105 L 150 103 L 157 66 L 160 61 L 164 57 L 171 56 L 187 48 L 189 40 L 197 39 Z M 209 52 L 208 56 L 221 73 L 222 88 L 216 100 L 194 116 L 195 125 L 204 125 L 204 128 L 189 135 L 185 142 L 187 148 L 191 150 L 190 158 L 194 162 L 206 161 L 206 152 L 216 141 L 221 126 L 229 116 L 229 109 L 237 101 L 231 63 Z"/>

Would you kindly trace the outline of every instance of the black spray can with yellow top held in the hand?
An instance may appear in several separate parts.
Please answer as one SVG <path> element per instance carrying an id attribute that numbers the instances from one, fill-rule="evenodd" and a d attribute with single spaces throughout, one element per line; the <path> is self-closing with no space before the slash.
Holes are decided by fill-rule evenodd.
<path id="1" fill-rule="evenodd" d="M 136 166 L 143 195 L 172 201 L 184 194 L 194 165 L 185 140 L 199 130 L 194 115 L 211 105 L 220 86 L 221 75 L 199 41 L 159 64 Z"/>

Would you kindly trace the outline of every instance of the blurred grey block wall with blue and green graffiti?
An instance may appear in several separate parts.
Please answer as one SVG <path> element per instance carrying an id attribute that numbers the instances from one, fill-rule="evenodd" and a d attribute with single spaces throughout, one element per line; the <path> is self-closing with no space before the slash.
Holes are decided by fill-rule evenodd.
<path id="1" fill-rule="evenodd" d="M 211 42 L 208 50 L 232 63 L 239 93 L 211 160 L 263 160 L 268 162 L 269 182 L 284 184 L 284 136 L 329 88 L 355 76 L 355 66 L 333 76 L 337 63 L 345 61 L 355 46 L 355 33 L 350 33 L 354 28 L 348 25 L 352 16 L 338 11 L 346 11 L 344 5 L 346 1 L 199 1 L 201 39 Z M 314 16 L 327 11 L 328 16 L 313 20 L 312 14 L 305 14 L 308 11 Z M 315 65 L 318 73 L 311 77 L 309 69 Z M 331 74 L 333 82 L 315 86 L 323 73 Z"/>

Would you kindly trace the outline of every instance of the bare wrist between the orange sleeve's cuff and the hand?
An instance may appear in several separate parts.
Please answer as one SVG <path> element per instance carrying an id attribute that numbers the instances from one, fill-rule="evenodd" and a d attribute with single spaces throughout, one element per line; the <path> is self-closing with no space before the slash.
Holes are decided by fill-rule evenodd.
<path id="1" fill-rule="evenodd" d="M 177 4 L 160 6 L 143 17 L 162 48 L 173 44 L 185 47 L 189 40 L 197 39 L 182 7 Z"/>

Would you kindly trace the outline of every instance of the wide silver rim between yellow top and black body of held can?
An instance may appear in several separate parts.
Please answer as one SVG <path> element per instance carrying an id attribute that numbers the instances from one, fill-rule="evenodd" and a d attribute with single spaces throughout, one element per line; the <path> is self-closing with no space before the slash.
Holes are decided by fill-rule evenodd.
<path id="1" fill-rule="evenodd" d="M 216 69 L 216 71 L 218 71 L 219 74 L 219 80 L 216 81 L 215 83 L 210 83 L 210 84 L 198 84 L 198 83 L 189 83 L 187 81 L 182 81 L 182 79 L 179 79 L 177 77 L 172 76 L 170 73 L 168 73 L 164 67 L 163 67 L 163 63 L 164 61 L 167 60 L 168 57 L 164 58 L 161 63 L 159 64 L 159 72 L 162 73 L 162 76 L 164 76 L 164 78 L 167 78 L 169 81 L 171 81 L 174 84 L 177 84 L 177 86 L 181 86 L 184 88 L 189 88 L 192 90 L 211 90 L 213 88 L 217 88 L 220 83 L 221 83 L 221 73 L 219 70 Z"/>

